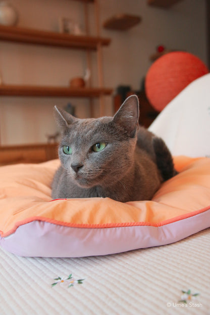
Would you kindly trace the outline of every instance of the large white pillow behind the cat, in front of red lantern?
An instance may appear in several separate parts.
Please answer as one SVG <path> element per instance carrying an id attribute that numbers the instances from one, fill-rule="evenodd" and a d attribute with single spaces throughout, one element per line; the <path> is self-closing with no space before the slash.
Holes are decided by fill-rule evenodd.
<path id="1" fill-rule="evenodd" d="M 182 90 L 149 130 L 165 140 L 173 155 L 210 157 L 210 73 Z"/>

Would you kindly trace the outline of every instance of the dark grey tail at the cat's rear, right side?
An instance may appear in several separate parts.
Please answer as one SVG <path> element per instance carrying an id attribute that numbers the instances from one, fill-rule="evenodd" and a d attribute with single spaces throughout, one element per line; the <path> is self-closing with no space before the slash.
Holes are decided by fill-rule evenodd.
<path id="1" fill-rule="evenodd" d="M 166 181 L 178 174 L 174 168 L 174 162 L 166 143 L 162 138 L 153 137 L 152 139 L 156 164 L 161 172 L 163 180 Z"/>

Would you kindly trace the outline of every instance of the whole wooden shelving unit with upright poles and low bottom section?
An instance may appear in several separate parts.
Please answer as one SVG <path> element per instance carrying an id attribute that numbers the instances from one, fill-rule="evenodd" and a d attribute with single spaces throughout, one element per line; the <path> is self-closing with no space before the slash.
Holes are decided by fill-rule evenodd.
<path id="1" fill-rule="evenodd" d="M 86 97 L 90 100 L 91 116 L 93 114 L 92 98 L 98 97 L 100 116 L 104 116 L 104 95 L 110 95 L 112 88 L 103 84 L 102 46 L 110 44 L 110 38 L 100 36 L 98 0 L 75 0 L 83 3 L 86 35 L 72 35 L 50 31 L 36 30 L 24 27 L 0 26 L 0 41 L 21 44 L 55 46 L 69 49 L 83 49 L 86 51 L 87 68 L 91 71 L 92 50 L 96 51 L 98 86 L 93 87 L 91 80 L 82 88 L 64 86 L 33 86 L 0 84 L 0 96 L 39 96 L 39 97 Z M 89 34 L 88 5 L 94 6 L 96 36 Z M 0 165 L 11 163 L 38 163 L 57 158 L 57 144 L 29 144 L 18 146 L 1 146 Z"/>

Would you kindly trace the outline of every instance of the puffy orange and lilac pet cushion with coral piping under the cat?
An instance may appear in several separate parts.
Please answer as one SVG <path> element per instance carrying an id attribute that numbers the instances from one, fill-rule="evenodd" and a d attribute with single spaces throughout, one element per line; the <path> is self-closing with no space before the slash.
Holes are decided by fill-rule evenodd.
<path id="1" fill-rule="evenodd" d="M 152 200 L 50 198 L 59 160 L 0 168 L 1 245 L 23 256 L 104 255 L 176 242 L 210 226 L 210 159 L 177 156 L 180 172 Z"/>

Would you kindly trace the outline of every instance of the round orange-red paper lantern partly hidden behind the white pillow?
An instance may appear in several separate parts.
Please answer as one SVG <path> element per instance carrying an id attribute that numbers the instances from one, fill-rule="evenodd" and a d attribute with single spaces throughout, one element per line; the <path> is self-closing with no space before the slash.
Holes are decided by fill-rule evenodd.
<path id="1" fill-rule="evenodd" d="M 156 60 L 145 79 L 146 95 L 152 107 L 161 112 L 189 83 L 209 71 L 196 56 L 183 51 L 168 53 Z"/>

